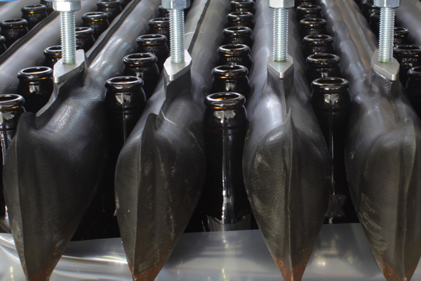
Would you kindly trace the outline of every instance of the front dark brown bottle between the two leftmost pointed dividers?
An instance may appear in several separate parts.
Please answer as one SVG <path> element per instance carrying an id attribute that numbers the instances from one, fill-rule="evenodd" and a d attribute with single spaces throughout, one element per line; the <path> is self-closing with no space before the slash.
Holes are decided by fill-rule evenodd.
<path id="1" fill-rule="evenodd" d="M 142 86 L 142 79 L 134 76 L 114 77 L 105 82 L 105 107 L 113 159 L 118 157 L 145 107 L 146 96 Z"/>

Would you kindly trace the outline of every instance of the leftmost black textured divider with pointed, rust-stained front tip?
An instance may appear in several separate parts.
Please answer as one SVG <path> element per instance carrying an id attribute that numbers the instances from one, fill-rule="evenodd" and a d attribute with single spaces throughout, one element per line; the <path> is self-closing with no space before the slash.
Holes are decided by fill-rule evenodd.
<path id="1" fill-rule="evenodd" d="M 133 53 L 157 6 L 159 0 L 127 6 L 94 46 L 85 71 L 69 79 L 41 115 L 20 118 L 6 155 L 4 190 L 29 280 L 48 280 L 91 203 L 107 163 L 105 80 L 123 72 L 123 56 Z"/>

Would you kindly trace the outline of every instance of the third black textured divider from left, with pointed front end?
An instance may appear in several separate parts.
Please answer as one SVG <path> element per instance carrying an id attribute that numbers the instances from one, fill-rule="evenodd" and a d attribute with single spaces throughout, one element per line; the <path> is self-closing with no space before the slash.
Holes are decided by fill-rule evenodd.
<path id="1" fill-rule="evenodd" d="M 301 280 L 328 204 L 328 150 L 309 103 L 295 14 L 284 79 L 272 59 L 272 9 L 256 2 L 243 174 L 253 213 L 284 280 Z"/>

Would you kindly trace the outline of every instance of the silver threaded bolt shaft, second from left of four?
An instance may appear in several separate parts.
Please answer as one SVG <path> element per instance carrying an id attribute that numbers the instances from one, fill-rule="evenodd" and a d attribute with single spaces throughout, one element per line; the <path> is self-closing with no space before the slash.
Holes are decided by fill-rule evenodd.
<path id="1" fill-rule="evenodd" d="M 170 51 L 171 63 L 185 62 L 184 10 L 170 10 Z"/>

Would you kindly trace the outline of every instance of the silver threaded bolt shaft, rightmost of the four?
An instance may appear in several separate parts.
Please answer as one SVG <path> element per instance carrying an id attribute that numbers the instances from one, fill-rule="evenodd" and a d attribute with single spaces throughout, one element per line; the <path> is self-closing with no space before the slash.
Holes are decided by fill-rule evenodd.
<path id="1" fill-rule="evenodd" d="M 380 9 L 379 62 L 393 62 L 394 8 Z"/>

